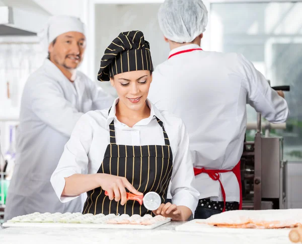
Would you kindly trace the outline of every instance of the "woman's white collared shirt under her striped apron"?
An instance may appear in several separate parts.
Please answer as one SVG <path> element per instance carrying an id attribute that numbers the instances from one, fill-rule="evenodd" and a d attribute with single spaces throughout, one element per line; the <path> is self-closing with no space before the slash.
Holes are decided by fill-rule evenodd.
<path id="1" fill-rule="evenodd" d="M 114 119 L 116 144 L 142 146 L 165 145 L 162 127 L 155 116 L 162 120 L 173 155 L 171 177 L 172 203 L 187 206 L 194 211 L 199 193 L 193 188 L 194 172 L 189 150 L 189 136 L 183 121 L 168 111 L 159 111 L 152 103 L 150 116 L 138 121 L 132 128 L 120 123 L 115 116 L 114 101 L 112 109 L 90 111 L 84 114 L 66 143 L 59 164 L 51 176 L 51 184 L 62 203 L 77 197 L 61 197 L 65 187 L 64 177 L 75 173 L 97 173 L 110 144 L 109 124 Z"/>

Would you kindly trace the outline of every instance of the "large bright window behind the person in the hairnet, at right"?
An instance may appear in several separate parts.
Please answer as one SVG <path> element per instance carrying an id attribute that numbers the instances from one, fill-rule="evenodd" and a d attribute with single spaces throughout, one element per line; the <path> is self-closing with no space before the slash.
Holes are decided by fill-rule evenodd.
<path id="1" fill-rule="evenodd" d="M 240 52 L 270 80 L 271 86 L 290 85 L 285 92 L 290 109 L 284 137 L 284 158 L 302 161 L 302 3 L 212 3 L 210 49 Z M 248 120 L 256 121 L 248 106 Z M 248 138 L 253 132 L 247 132 Z"/>

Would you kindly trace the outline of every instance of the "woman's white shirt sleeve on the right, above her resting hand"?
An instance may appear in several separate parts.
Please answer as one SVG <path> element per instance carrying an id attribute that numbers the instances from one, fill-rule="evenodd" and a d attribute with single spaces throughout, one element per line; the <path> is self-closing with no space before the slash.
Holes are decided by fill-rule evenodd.
<path id="1" fill-rule="evenodd" d="M 186 206 L 191 209 L 194 215 L 199 192 L 194 188 L 195 176 L 189 148 L 189 135 L 182 120 L 178 135 L 179 143 L 177 153 L 174 156 L 171 177 L 172 204 Z"/>

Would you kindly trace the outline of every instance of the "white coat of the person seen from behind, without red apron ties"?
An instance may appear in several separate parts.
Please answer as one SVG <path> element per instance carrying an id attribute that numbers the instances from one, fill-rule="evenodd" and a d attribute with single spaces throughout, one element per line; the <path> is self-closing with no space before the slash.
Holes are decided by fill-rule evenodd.
<path id="1" fill-rule="evenodd" d="M 189 44 L 179 51 L 200 48 Z M 288 116 L 286 101 L 242 54 L 195 50 L 174 55 L 153 73 L 148 98 L 159 109 L 180 116 L 188 129 L 194 167 L 232 169 L 243 152 L 246 104 L 273 123 Z M 220 173 L 226 201 L 240 200 L 233 172 Z M 200 199 L 222 201 L 218 181 L 196 176 Z"/>

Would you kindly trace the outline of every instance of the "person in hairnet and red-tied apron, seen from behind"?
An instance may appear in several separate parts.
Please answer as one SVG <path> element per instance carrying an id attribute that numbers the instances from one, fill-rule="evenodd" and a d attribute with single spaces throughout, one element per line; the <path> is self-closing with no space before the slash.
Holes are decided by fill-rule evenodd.
<path id="1" fill-rule="evenodd" d="M 153 73 L 148 98 L 187 127 L 200 193 L 195 218 L 241 209 L 246 104 L 283 123 L 289 113 L 284 94 L 274 91 L 242 54 L 201 49 L 207 25 L 201 0 L 166 0 L 158 19 L 171 51 Z"/>

